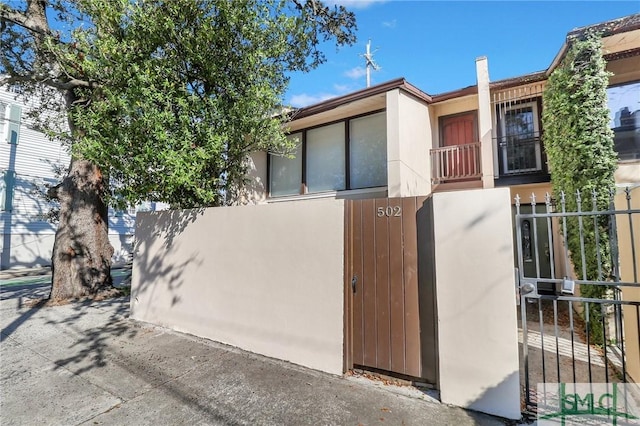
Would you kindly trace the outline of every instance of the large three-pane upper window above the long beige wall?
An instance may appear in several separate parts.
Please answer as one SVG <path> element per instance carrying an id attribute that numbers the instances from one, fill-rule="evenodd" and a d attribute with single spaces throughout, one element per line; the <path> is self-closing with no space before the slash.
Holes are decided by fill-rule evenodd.
<path id="1" fill-rule="evenodd" d="M 386 186 L 386 114 L 303 130 L 294 158 L 269 156 L 272 197 Z"/>

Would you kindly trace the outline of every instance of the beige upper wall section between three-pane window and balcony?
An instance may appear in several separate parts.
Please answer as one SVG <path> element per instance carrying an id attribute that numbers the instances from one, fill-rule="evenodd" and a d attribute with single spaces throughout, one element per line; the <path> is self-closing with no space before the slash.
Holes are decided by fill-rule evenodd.
<path id="1" fill-rule="evenodd" d="M 389 197 L 431 193 L 427 105 L 396 89 L 387 93 L 387 175 Z"/>

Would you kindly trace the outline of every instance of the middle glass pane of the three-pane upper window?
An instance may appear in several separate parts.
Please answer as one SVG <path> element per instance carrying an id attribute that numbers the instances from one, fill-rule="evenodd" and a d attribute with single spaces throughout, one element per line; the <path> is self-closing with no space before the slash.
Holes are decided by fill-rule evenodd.
<path id="1" fill-rule="evenodd" d="M 308 192 L 345 189 L 344 123 L 307 132 Z"/>

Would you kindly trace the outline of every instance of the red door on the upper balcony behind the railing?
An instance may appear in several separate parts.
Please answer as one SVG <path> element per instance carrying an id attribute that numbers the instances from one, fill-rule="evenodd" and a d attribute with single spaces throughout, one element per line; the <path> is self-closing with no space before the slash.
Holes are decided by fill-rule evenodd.
<path id="1" fill-rule="evenodd" d="M 476 113 L 467 112 L 441 119 L 441 139 L 447 150 L 442 165 L 444 174 L 450 180 L 461 180 L 479 172 L 479 162 L 474 147 L 468 144 L 478 142 Z"/>

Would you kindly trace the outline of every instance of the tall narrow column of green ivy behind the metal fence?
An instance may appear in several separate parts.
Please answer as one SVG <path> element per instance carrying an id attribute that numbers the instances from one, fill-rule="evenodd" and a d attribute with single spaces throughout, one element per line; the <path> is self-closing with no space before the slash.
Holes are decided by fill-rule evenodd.
<path id="1" fill-rule="evenodd" d="M 609 73 L 597 35 L 570 41 L 571 47 L 549 80 L 543 96 L 544 143 L 549 159 L 556 200 L 565 194 L 567 211 L 577 211 L 577 193 L 582 210 L 592 209 L 596 194 L 598 210 L 607 210 L 615 190 L 617 156 L 613 131 L 609 128 L 607 85 Z M 584 262 L 578 218 L 568 218 L 568 241 L 576 276 L 606 280 L 612 273 L 608 217 L 583 220 Z M 597 241 L 596 241 L 597 240 Z M 581 286 L 584 297 L 602 298 L 604 286 Z M 592 341 L 602 343 L 600 306 L 591 304 Z"/>

